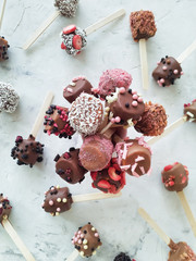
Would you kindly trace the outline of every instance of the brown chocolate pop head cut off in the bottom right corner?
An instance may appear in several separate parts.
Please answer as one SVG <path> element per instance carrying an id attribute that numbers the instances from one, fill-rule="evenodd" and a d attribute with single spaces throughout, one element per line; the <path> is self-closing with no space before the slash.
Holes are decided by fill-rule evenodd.
<path id="1" fill-rule="evenodd" d="M 171 240 L 169 247 L 171 250 L 168 261 L 196 261 L 196 254 L 186 243 L 180 241 L 174 244 Z"/>

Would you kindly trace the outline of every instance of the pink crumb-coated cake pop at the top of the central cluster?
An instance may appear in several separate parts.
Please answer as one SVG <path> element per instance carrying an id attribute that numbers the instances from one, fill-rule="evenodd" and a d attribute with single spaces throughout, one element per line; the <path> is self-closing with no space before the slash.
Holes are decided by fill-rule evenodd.
<path id="1" fill-rule="evenodd" d="M 115 88 L 127 89 L 132 84 L 132 75 L 122 69 L 107 70 L 99 79 L 99 87 L 94 91 L 106 97 L 115 91 Z"/>

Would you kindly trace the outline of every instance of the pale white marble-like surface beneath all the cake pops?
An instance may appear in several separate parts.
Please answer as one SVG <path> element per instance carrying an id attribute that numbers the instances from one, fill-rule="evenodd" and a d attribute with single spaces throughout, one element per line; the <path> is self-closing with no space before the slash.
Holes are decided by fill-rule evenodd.
<path id="1" fill-rule="evenodd" d="M 60 49 L 59 33 L 65 25 L 86 27 L 120 8 L 125 8 L 125 17 L 90 35 L 79 55 L 72 58 Z M 102 71 L 121 67 L 133 75 L 132 87 L 143 92 L 146 101 L 164 105 L 169 123 L 182 115 L 184 102 L 196 98 L 196 52 L 184 61 L 185 74 L 174 86 L 160 88 L 150 77 L 150 89 L 143 91 L 138 45 L 133 41 L 128 26 L 130 12 L 140 9 L 155 13 L 158 28 L 147 44 L 150 74 L 162 55 L 180 55 L 196 38 L 195 0 L 81 0 L 75 18 L 58 17 L 28 51 L 22 45 L 54 11 L 52 1 L 8 1 L 0 34 L 11 48 L 9 61 L 0 64 L 0 80 L 14 86 L 21 102 L 15 113 L 0 115 L 0 191 L 11 200 L 10 221 L 37 261 L 65 260 L 73 250 L 72 235 L 88 221 L 97 227 L 103 243 L 91 260 L 112 261 L 115 254 L 125 251 L 137 261 L 166 261 L 169 248 L 137 214 L 138 207 L 145 208 L 173 240 L 185 240 L 196 249 L 196 239 L 176 194 L 167 191 L 160 178 L 162 167 L 169 163 L 180 161 L 188 166 L 189 185 L 185 194 L 196 216 L 194 123 L 184 124 L 152 146 L 152 174 L 140 178 L 127 176 L 121 198 L 75 203 L 58 217 L 42 211 L 44 192 L 51 185 L 68 186 L 54 173 L 53 158 L 71 146 L 81 146 L 79 136 L 59 139 L 40 129 L 37 139 L 46 145 L 45 160 L 33 169 L 17 166 L 10 157 L 15 137 L 28 136 L 47 91 L 56 94 L 53 103 L 69 105 L 62 90 L 77 75 L 85 75 L 97 86 Z M 130 136 L 138 134 L 131 129 Z M 73 195 L 96 191 L 88 175 L 81 185 L 69 187 Z M 0 260 L 24 260 L 2 227 Z"/>

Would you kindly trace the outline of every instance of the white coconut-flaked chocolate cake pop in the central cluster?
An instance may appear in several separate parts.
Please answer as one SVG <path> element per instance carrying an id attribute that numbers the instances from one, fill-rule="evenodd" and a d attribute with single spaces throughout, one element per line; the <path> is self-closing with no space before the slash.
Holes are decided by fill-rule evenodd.
<path id="1" fill-rule="evenodd" d="M 81 94 L 72 102 L 69 120 L 74 130 L 81 134 L 94 135 L 102 122 L 103 105 L 100 99 L 88 95 Z"/>

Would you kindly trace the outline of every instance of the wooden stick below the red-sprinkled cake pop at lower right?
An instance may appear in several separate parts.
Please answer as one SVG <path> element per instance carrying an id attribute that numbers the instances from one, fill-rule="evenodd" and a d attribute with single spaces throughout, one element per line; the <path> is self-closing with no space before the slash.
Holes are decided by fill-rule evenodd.
<path id="1" fill-rule="evenodd" d="M 189 222 L 189 224 L 192 226 L 193 233 L 194 233 L 194 235 L 196 237 L 196 220 L 195 220 L 195 217 L 193 215 L 193 212 L 192 212 L 192 210 L 189 208 L 189 204 L 188 204 L 188 202 L 186 200 L 184 191 L 177 192 L 177 196 L 179 196 L 179 199 L 181 200 L 181 203 L 182 203 L 182 206 L 184 208 L 186 217 L 187 217 L 187 220 L 188 220 L 188 222 Z"/>

